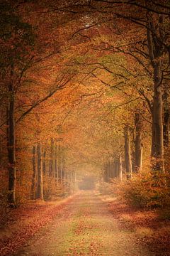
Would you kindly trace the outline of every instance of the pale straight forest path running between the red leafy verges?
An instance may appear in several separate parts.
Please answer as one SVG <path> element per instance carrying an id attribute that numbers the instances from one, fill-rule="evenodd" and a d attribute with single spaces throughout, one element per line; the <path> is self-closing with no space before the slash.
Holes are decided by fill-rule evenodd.
<path id="1" fill-rule="evenodd" d="M 134 231 L 118 227 L 106 203 L 83 191 L 45 225 L 17 256 L 151 256 Z"/>

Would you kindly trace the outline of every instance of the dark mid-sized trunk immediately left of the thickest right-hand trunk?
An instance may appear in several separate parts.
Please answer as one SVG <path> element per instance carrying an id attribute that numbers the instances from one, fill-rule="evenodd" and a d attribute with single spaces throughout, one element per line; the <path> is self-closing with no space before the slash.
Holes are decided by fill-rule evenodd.
<path id="1" fill-rule="evenodd" d="M 140 113 L 135 113 L 135 173 L 137 174 L 142 170 L 142 119 Z"/>

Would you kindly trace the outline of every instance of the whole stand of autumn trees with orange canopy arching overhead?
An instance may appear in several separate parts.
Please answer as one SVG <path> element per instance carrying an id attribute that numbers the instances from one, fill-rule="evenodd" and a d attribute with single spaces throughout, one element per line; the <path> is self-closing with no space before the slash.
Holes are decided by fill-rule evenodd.
<path id="1" fill-rule="evenodd" d="M 131 178 L 142 157 L 167 173 L 169 9 L 164 0 L 1 1 L 0 154 L 11 206 L 21 177 L 43 198 L 42 176 L 57 189 L 82 164 L 104 166 L 106 181 Z"/>

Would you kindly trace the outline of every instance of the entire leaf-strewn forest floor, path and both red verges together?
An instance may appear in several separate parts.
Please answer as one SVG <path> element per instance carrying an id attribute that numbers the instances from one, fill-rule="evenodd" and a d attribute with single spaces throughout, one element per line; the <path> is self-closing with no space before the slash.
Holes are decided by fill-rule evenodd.
<path id="1" fill-rule="evenodd" d="M 13 213 L 0 236 L 2 256 L 170 255 L 168 221 L 154 210 L 135 210 L 94 191 Z"/>

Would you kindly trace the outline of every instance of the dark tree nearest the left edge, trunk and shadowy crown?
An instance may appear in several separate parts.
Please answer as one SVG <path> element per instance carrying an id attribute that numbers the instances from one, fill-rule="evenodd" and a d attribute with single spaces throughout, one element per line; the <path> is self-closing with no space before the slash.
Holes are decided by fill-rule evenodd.
<path id="1" fill-rule="evenodd" d="M 13 7 L 2 1 L 1 12 L 1 78 L 4 90 L 8 92 L 7 141 L 8 141 L 8 201 L 16 204 L 16 92 L 23 73 L 30 61 L 29 51 L 33 49 L 35 34 L 33 28 L 15 14 Z"/>

